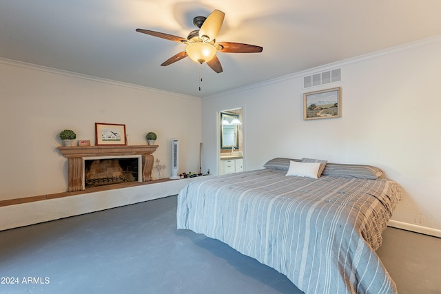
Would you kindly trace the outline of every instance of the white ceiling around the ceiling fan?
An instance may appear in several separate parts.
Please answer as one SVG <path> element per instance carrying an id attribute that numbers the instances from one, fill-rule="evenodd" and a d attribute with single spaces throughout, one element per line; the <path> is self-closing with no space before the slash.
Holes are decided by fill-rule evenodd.
<path id="1" fill-rule="evenodd" d="M 162 67 L 185 45 L 135 32 L 187 37 L 214 9 L 217 41 L 263 52 L 219 52 L 220 74 L 189 58 Z M 0 1 L 0 57 L 199 97 L 439 34 L 440 0 Z"/>

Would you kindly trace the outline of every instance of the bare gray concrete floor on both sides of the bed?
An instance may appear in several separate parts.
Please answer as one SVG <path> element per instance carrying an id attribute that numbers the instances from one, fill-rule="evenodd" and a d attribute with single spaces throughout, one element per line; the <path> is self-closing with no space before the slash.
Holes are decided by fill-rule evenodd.
<path id="1" fill-rule="evenodd" d="M 378 255 L 400 294 L 441 293 L 440 238 L 383 236 Z M 226 244 L 176 230 L 176 196 L 0 231 L 0 275 L 0 293 L 302 293 Z"/>

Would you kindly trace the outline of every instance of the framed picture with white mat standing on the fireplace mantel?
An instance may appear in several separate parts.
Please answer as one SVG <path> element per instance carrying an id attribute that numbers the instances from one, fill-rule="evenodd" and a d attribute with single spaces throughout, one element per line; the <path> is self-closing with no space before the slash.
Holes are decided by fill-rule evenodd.
<path id="1" fill-rule="evenodd" d="M 96 145 L 127 145 L 125 125 L 95 123 Z"/>

